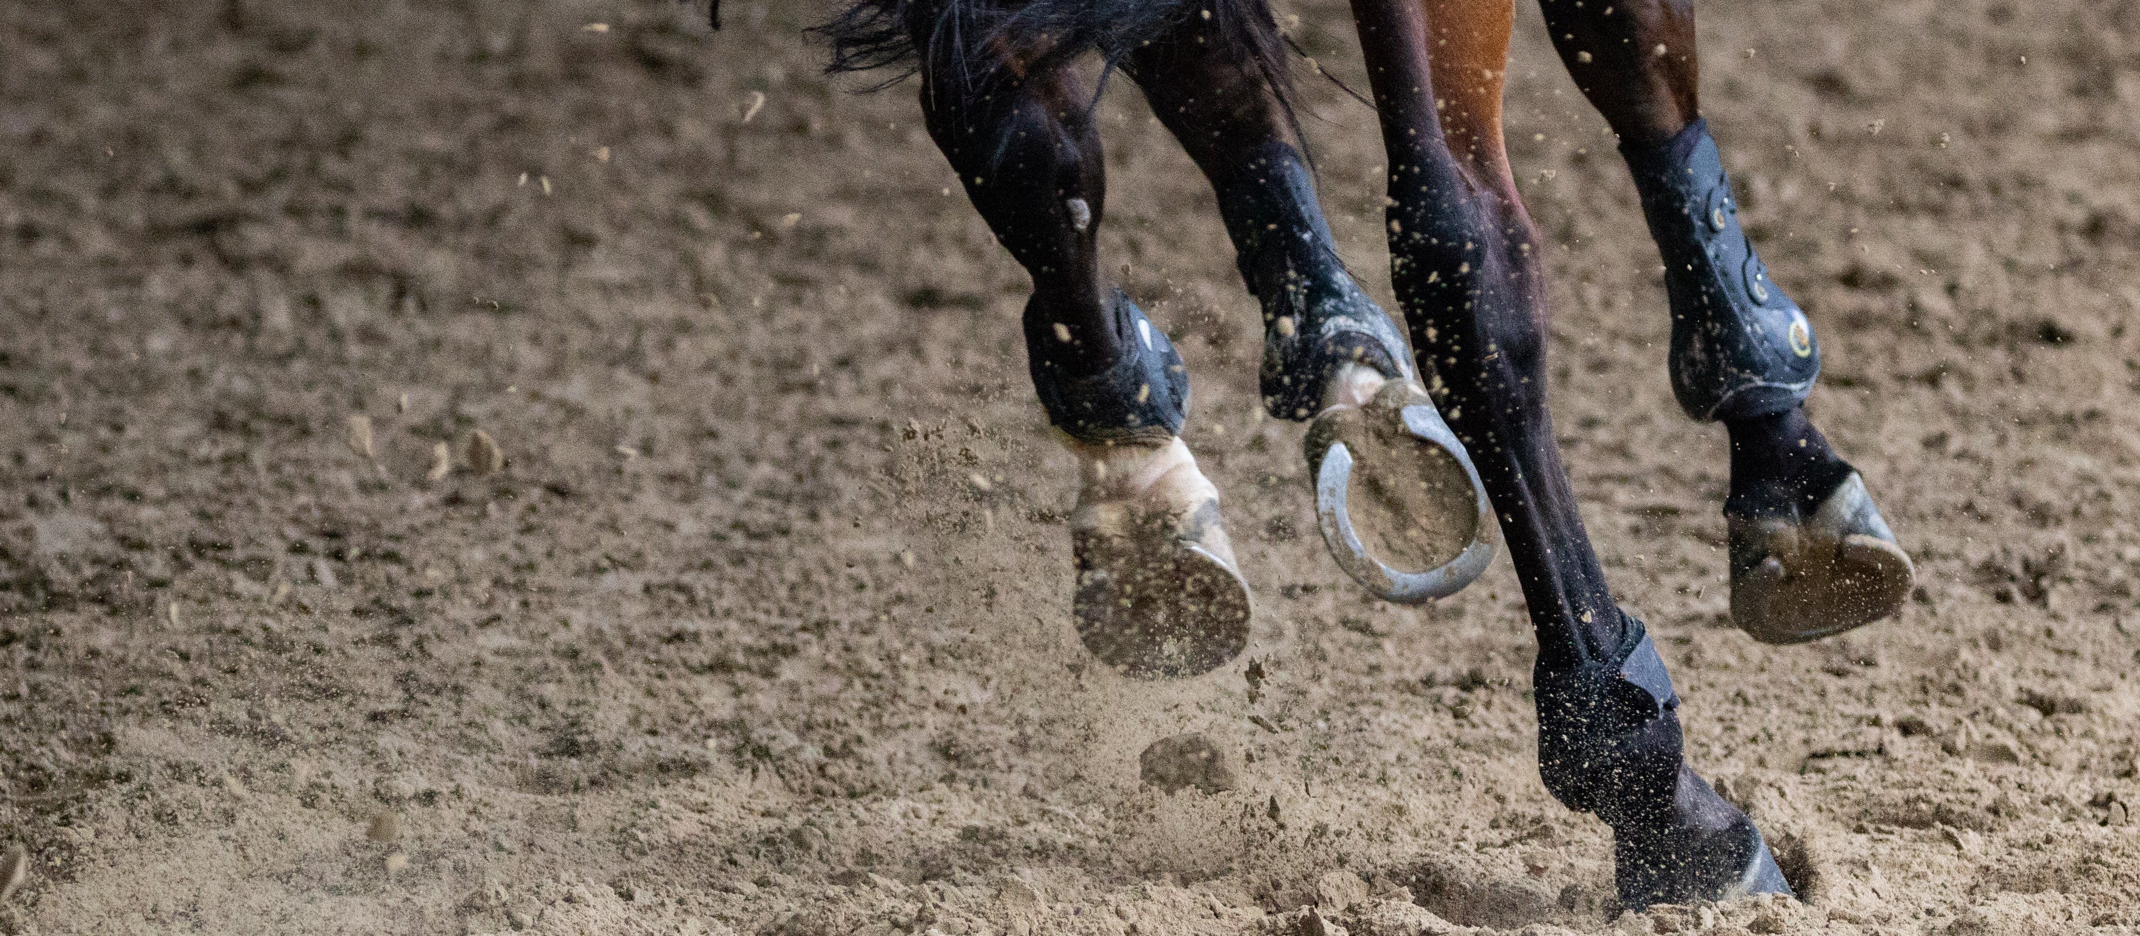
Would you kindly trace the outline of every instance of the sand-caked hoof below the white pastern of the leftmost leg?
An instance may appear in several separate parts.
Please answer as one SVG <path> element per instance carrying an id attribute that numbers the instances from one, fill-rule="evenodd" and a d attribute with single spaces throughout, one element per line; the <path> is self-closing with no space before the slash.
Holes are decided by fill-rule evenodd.
<path id="1" fill-rule="evenodd" d="M 1216 506 L 1209 526 L 1218 526 Z M 1224 532 L 1218 536 L 1222 545 Z M 1100 662 L 1141 680 L 1183 677 L 1209 673 L 1248 648 L 1248 581 L 1196 536 L 1081 532 L 1072 547 L 1076 635 Z"/>

